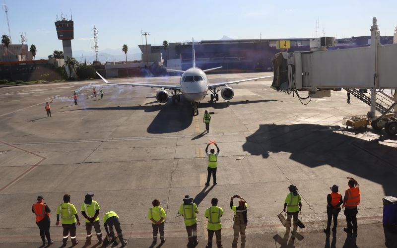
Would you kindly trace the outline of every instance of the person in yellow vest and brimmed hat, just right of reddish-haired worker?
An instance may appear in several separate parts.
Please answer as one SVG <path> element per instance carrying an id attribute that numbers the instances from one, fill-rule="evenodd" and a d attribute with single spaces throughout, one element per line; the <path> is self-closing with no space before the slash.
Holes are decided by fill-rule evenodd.
<path id="1" fill-rule="evenodd" d="M 183 216 L 186 231 L 188 232 L 188 247 L 196 247 L 199 244 L 197 239 L 197 217 L 199 213 L 196 203 L 190 195 L 185 195 L 183 204 L 179 207 L 179 214 Z"/>

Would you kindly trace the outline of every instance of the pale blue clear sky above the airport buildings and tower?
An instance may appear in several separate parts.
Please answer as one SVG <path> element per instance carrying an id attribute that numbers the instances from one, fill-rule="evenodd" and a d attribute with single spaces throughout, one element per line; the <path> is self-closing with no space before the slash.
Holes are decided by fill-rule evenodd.
<path id="1" fill-rule="evenodd" d="M 2 0 L 4 1 L 4 0 Z M 311 38 L 370 35 L 372 17 L 377 17 L 381 35 L 393 36 L 397 25 L 396 0 L 344 0 L 318 4 L 292 0 L 5 0 L 12 43 L 37 48 L 37 58 L 62 50 L 55 29 L 61 13 L 74 20 L 73 51 L 93 52 L 94 25 L 98 29 L 99 51 L 127 44 L 130 51 L 148 32 L 148 44 L 163 40 L 180 42 L 232 39 Z M 325 2 L 325 1 L 323 1 Z M 2 2 L 4 3 L 4 2 Z M 5 12 L 0 12 L 0 34 L 8 35 Z M 143 37 L 143 43 L 144 43 Z M 74 54 L 73 54 L 74 55 Z M 75 56 L 74 56 L 75 57 Z"/>

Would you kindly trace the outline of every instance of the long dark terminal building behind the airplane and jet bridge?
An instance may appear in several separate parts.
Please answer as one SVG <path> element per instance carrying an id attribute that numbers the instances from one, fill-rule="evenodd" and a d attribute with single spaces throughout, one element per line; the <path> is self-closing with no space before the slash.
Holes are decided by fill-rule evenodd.
<path id="1" fill-rule="evenodd" d="M 272 71 L 271 58 L 281 51 L 276 46 L 280 40 L 289 42 L 288 51 L 310 51 L 310 38 L 199 41 L 195 42 L 196 64 L 201 69 L 223 66 L 216 70 L 216 73 Z M 392 44 L 393 36 L 382 36 L 381 43 Z M 330 49 L 370 44 L 371 36 L 351 37 L 337 39 L 336 46 Z M 186 70 L 192 66 L 192 42 L 170 43 L 167 51 L 162 45 L 142 45 L 139 48 L 142 51 L 143 62 L 146 62 L 147 57 L 149 62 L 164 62 L 170 69 Z"/>

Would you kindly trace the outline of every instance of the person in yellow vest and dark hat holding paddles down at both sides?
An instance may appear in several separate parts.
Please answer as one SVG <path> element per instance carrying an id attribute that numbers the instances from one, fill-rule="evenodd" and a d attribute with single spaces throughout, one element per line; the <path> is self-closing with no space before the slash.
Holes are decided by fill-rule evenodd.
<path id="1" fill-rule="evenodd" d="M 294 218 L 294 229 L 292 232 L 291 237 L 295 237 L 296 229 L 298 228 L 298 214 L 302 211 L 302 200 L 300 194 L 298 194 L 298 188 L 295 185 L 290 185 L 289 187 L 289 194 L 284 201 L 284 209 L 287 207 L 287 225 L 285 233 L 289 233 L 291 228 L 291 219 Z"/>

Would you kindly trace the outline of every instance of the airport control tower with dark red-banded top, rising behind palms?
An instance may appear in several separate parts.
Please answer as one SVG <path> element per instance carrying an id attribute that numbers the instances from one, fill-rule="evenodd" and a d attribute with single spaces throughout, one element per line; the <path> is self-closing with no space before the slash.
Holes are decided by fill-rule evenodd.
<path id="1" fill-rule="evenodd" d="M 55 27 L 57 28 L 58 40 L 62 40 L 64 59 L 66 61 L 67 57 L 73 57 L 71 52 L 71 40 L 74 38 L 73 20 L 71 18 L 66 19 L 62 16 L 61 20 L 55 22 Z"/>

